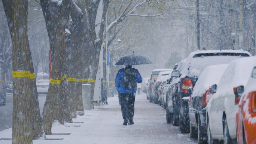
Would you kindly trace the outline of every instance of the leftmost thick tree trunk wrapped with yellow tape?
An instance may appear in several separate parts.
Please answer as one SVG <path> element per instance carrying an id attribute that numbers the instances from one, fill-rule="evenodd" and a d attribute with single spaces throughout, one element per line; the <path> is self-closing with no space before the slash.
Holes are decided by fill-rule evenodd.
<path id="1" fill-rule="evenodd" d="M 28 1 L 4 0 L 3 6 L 13 42 L 13 71 L 26 73 L 13 79 L 12 144 L 30 144 L 42 136 L 43 129 L 36 81 L 28 75 L 34 73 L 27 36 Z"/>

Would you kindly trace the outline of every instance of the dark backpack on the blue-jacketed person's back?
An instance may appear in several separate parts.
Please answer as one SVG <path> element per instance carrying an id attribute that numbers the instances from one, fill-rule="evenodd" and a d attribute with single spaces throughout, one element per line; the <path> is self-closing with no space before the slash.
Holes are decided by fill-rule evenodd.
<path id="1" fill-rule="evenodd" d="M 126 89 L 132 89 L 136 87 L 137 79 L 136 79 L 136 71 L 130 68 L 124 70 L 124 76 L 122 80 L 122 84 Z"/>

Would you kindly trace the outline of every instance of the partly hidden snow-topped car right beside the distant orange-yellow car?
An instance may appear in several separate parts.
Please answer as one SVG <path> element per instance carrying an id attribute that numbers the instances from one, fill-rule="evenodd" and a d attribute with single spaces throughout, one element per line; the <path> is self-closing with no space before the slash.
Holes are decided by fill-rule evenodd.
<path id="1" fill-rule="evenodd" d="M 172 70 L 172 69 L 171 69 Z M 152 90 L 152 95 L 153 95 L 153 101 L 155 104 L 159 103 L 159 93 L 158 93 L 158 87 L 161 85 L 161 83 L 165 80 L 165 77 L 168 76 L 170 71 L 161 71 L 158 75 L 157 78 L 154 78 L 154 85 L 153 85 L 153 90 Z"/>

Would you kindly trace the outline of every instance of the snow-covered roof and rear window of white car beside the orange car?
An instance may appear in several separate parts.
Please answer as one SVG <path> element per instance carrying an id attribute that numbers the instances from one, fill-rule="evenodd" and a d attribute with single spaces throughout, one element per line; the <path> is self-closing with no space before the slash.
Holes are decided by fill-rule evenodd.
<path id="1" fill-rule="evenodd" d="M 232 61 L 224 71 L 214 96 L 234 94 L 233 88 L 246 86 L 255 64 L 255 56 Z"/>

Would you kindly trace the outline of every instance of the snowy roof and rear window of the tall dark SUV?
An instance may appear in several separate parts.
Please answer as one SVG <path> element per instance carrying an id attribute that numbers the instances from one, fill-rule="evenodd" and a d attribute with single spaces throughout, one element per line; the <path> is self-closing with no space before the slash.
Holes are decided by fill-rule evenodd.
<path id="1" fill-rule="evenodd" d="M 229 64 L 234 59 L 252 56 L 245 50 L 198 50 L 191 52 L 182 70 L 182 76 L 199 77 L 209 65 Z"/>

